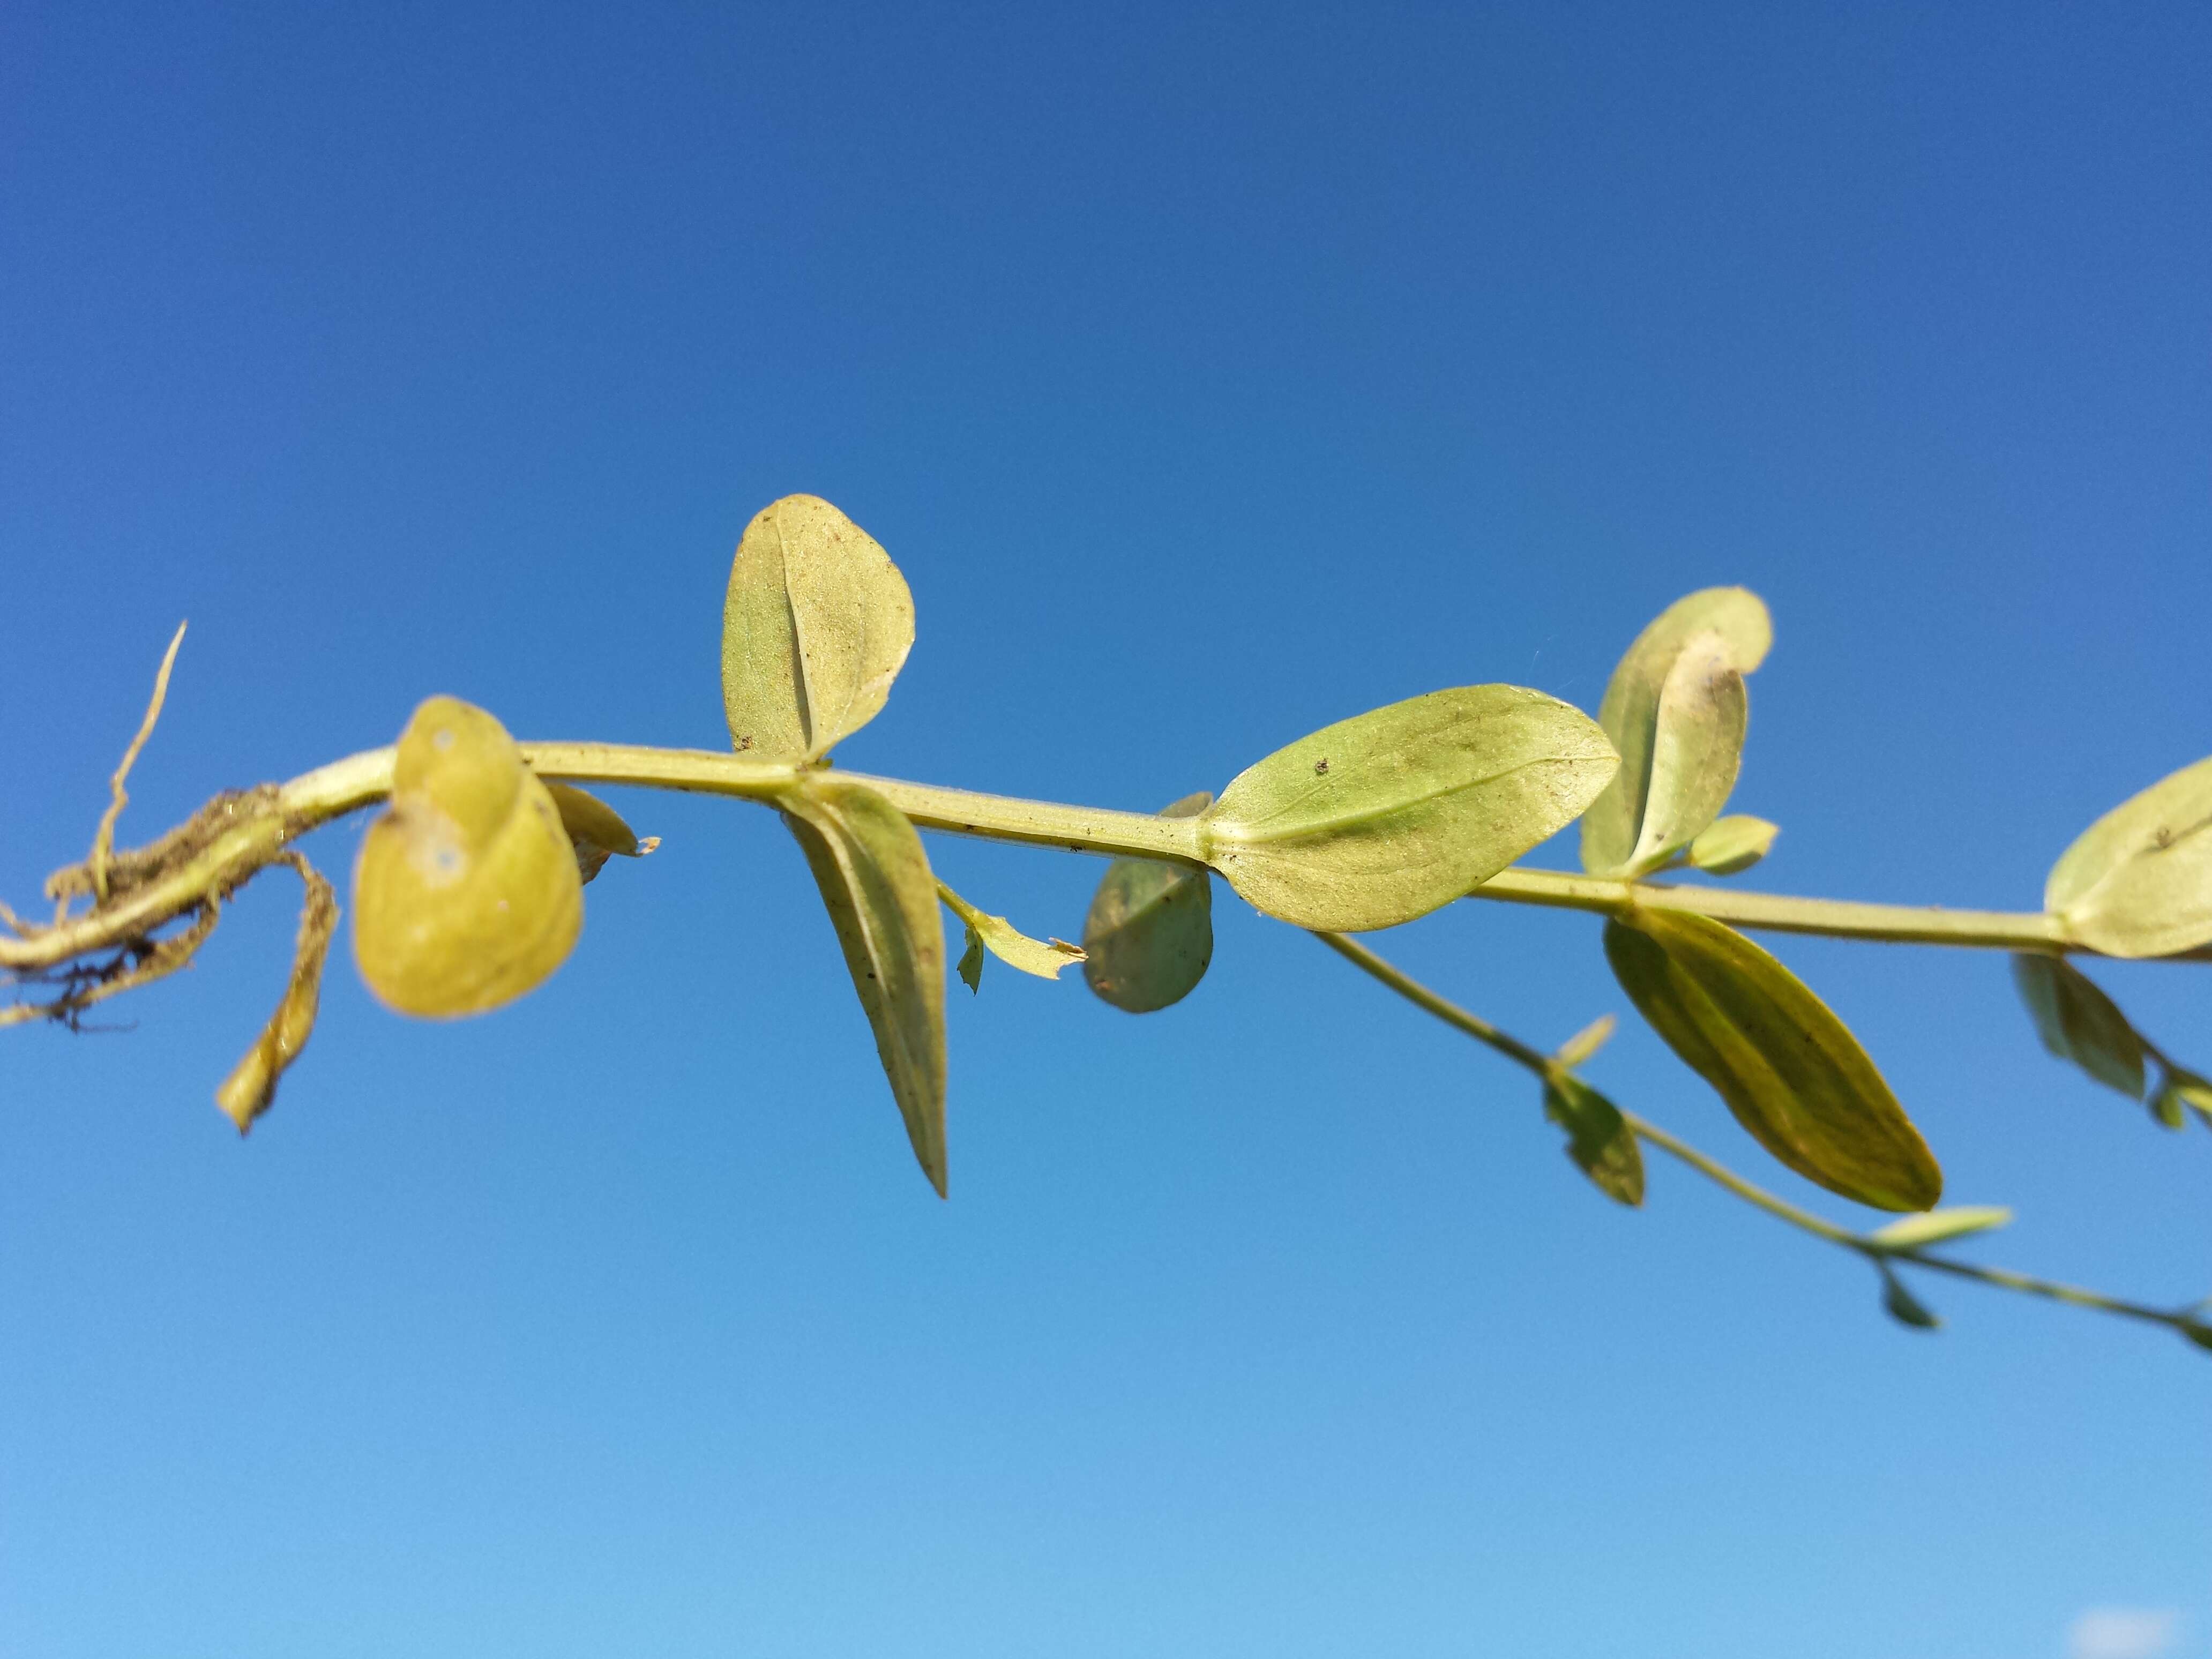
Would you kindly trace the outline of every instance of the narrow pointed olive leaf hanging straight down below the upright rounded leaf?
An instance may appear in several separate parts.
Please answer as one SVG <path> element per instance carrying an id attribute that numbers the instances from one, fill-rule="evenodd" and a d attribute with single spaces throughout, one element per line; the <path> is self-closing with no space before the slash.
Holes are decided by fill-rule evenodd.
<path id="1" fill-rule="evenodd" d="M 781 796 L 845 951 L 914 1157 L 945 1197 L 945 920 L 914 825 L 874 790 L 814 772 Z"/>

